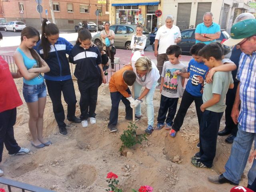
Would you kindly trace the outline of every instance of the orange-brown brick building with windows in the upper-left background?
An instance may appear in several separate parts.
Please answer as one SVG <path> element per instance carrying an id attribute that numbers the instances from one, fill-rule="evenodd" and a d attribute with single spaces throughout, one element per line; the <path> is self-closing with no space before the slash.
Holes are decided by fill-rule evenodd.
<path id="1" fill-rule="evenodd" d="M 58 1 L 52 0 L 53 14 L 55 22 L 60 29 L 74 29 L 78 22 L 95 22 L 96 10 L 98 9 L 98 24 L 109 20 L 109 2 L 98 4 L 97 0 L 69 0 Z M 52 22 L 52 14 L 50 11 L 50 3 L 48 0 L 41 3 L 43 12 L 42 17 L 48 18 Z M 0 16 L 9 21 L 24 21 L 27 26 L 33 26 L 37 29 L 41 28 L 40 14 L 36 11 L 35 0 L 1 0 Z M 22 10 L 22 11 L 21 11 Z M 46 11 L 47 10 L 47 11 Z M 24 14 L 20 14 L 24 12 Z M 48 15 L 46 15 L 48 12 Z"/>

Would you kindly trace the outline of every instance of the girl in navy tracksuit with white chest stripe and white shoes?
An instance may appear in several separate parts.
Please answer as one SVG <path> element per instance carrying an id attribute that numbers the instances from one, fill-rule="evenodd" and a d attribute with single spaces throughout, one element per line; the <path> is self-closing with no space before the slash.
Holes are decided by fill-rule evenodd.
<path id="1" fill-rule="evenodd" d="M 69 59 L 70 62 L 76 64 L 74 76 L 77 78 L 80 97 L 80 119 L 82 126 L 88 126 L 87 119 L 90 124 L 95 124 L 95 110 L 98 97 L 98 84 L 100 77 L 102 82 L 106 83 L 106 78 L 102 70 L 102 59 L 100 51 L 96 46 L 92 45 L 92 35 L 88 29 L 80 29 L 76 45 L 72 49 Z"/>

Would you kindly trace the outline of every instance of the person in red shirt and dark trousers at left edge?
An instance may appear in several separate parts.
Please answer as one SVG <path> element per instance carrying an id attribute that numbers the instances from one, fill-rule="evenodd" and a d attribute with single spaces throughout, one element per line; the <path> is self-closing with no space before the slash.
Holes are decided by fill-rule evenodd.
<path id="1" fill-rule="evenodd" d="M 0 32 L 0 40 L 2 33 Z M 16 122 L 16 107 L 22 105 L 22 100 L 16 88 L 13 78 L 22 77 L 19 70 L 10 72 L 8 63 L 0 56 L 0 162 L 4 145 L 10 155 L 26 154 L 29 149 L 18 146 L 13 126 Z M 0 176 L 4 172 L 0 169 Z"/>

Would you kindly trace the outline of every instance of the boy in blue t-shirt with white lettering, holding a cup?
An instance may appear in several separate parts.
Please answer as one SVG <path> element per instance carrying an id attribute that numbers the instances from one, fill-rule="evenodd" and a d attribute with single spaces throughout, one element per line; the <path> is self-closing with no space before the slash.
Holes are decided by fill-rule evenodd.
<path id="1" fill-rule="evenodd" d="M 174 74 L 176 75 L 188 78 L 188 82 L 186 84 L 186 89 L 182 96 L 180 108 L 174 119 L 172 129 L 170 130 L 169 133 L 171 137 L 175 137 L 176 133 L 180 130 L 187 110 L 193 101 L 195 102 L 196 105 L 196 114 L 198 118 L 198 124 L 200 125 L 200 106 L 202 104 L 202 84 L 200 82 L 203 82 L 209 70 L 209 68 L 206 65 L 204 65 L 202 58 L 198 56 L 199 50 L 202 49 L 204 46 L 206 46 L 206 44 L 198 43 L 193 45 L 192 48 L 190 49 L 190 54 L 192 54 L 194 59 L 190 60 L 188 64 L 188 72 L 182 73 L 179 70 L 174 72 Z"/>

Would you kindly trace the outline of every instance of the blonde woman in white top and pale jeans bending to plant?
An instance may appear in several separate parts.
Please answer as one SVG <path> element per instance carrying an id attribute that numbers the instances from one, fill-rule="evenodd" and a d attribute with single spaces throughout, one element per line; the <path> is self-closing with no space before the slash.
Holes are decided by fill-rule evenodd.
<path id="1" fill-rule="evenodd" d="M 136 100 L 131 106 L 135 106 L 136 118 L 140 119 L 140 104 L 142 98 L 146 96 L 148 127 L 145 131 L 146 133 L 151 134 L 154 130 L 153 96 L 160 74 L 156 65 L 148 57 L 141 56 L 139 51 L 134 52 L 132 57 L 132 68 L 136 74 L 136 81 L 134 82 L 134 98 L 136 98 Z M 142 86 L 145 86 L 145 89 L 141 93 Z"/>

